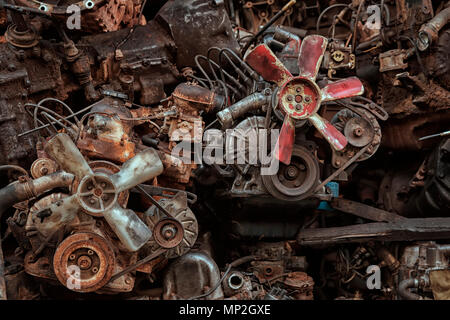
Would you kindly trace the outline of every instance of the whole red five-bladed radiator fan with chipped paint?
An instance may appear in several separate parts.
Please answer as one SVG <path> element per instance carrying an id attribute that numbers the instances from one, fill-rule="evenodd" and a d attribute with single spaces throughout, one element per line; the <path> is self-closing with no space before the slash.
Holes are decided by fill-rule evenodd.
<path id="1" fill-rule="evenodd" d="M 278 85 L 278 108 L 285 115 L 277 142 L 275 156 L 290 164 L 295 142 L 295 121 L 309 120 L 336 150 L 347 145 L 347 139 L 318 111 L 322 102 L 349 98 L 364 93 L 361 81 L 356 77 L 339 80 L 320 89 L 316 84 L 317 73 L 327 48 L 328 40 L 322 36 L 307 36 L 300 47 L 298 65 L 300 73 L 294 77 L 265 44 L 251 50 L 245 61 L 264 80 Z"/>

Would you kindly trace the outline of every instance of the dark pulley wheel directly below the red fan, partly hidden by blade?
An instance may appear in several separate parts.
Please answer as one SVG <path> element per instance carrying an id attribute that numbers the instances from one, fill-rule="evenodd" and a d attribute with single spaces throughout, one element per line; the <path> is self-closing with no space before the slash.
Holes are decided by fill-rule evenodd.
<path id="1" fill-rule="evenodd" d="M 263 175 L 267 191 L 277 199 L 300 201 L 312 195 L 319 181 L 319 163 L 305 147 L 295 145 L 291 163 L 280 162 L 277 174 Z"/>

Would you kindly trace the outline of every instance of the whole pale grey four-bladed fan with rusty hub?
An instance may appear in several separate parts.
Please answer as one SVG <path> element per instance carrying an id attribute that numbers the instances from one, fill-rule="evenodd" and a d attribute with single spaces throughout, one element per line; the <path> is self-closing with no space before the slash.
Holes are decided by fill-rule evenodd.
<path id="1" fill-rule="evenodd" d="M 74 172 L 81 179 L 74 195 L 49 207 L 52 217 L 64 216 L 67 218 L 58 221 L 68 221 L 80 209 L 94 215 L 103 214 L 127 250 L 134 252 L 145 245 L 151 231 L 132 210 L 122 208 L 117 199 L 119 193 L 162 173 L 163 164 L 154 149 L 140 152 L 114 175 L 94 173 L 66 134 L 55 136 L 47 143 L 45 150 L 60 167 Z"/>

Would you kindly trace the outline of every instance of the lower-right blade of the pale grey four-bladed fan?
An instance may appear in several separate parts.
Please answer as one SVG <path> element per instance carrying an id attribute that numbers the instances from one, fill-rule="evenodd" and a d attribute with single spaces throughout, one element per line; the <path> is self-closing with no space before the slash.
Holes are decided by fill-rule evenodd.
<path id="1" fill-rule="evenodd" d="M 152 236 L 150 229 L 133 210 L 115 205 L 106 210 L 103 217 L 130 252 L 138 251 Z"/>

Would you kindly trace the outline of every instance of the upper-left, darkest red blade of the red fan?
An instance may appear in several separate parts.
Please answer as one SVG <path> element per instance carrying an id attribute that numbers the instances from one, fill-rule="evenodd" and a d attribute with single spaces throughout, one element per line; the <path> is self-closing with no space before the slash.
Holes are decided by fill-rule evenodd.
<path id="1" fill-rule="evenodd" d="M 293 78 L 289 70 L 266 44 L 260 44 L 250 51 L 245 57 L 245 62 L 264 80 L 275 82 L 279 87 Z"/>

